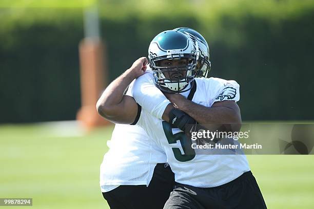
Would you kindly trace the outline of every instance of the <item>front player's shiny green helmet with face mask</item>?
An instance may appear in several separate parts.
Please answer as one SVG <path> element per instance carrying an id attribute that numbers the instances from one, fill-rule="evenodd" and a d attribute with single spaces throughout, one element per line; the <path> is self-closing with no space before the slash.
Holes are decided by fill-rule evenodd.
<path id="1" fill-rule="evenodd" d="M 148 59 L 156 85 L 168 93 L 188 91 L 194 80 L 198 60 L 198 48 L 180 31 L 167 30 L 156 35 L 148 48 Z M 186 66 L 162 67 L 162 60 L 186 59 Z M 168 76 L 167 76 L 168 75 Z M 189 86 L 189 87 L 188 87 Z"/>

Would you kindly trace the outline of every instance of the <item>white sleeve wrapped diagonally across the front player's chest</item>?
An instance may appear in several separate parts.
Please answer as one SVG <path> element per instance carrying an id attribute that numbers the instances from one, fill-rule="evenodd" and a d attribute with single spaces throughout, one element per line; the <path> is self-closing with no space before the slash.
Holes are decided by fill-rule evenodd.
<path id="1" fill-rule="evenodd" d="M 162 119 L 162 115 L 170 103 L 165 95 L 155 86 L 151 70 L 137 78 L 130 86 L 135 101 L 149 114 Z"/>

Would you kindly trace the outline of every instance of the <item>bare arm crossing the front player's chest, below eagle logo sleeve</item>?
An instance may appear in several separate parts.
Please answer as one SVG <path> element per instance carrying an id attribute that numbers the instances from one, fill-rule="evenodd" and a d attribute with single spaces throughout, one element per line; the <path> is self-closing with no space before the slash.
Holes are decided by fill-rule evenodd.
<path id="1" fill-rule="evenodd" d="M 166 96 L 175 108 L 187 113 L 198 123 L 217 127 L 221 124 L 234 124 L 233 130 L 241 127 L 240 108 L 233 100 L 217 101 L 209 108 L 194 103 L 180 94 L 166 94 Z"/>

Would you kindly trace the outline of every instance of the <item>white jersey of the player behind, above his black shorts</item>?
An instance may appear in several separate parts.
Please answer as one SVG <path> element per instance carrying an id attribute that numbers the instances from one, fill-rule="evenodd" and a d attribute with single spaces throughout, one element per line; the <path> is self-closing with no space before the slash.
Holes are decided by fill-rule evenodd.
<path id="1" fill-rule="evenodd" d="M 119 185 L 148 186 L 156 164 L 167 162 L 165 152 L 139 126 L 116 124 L 107 145 L 100 169 L 102 192 Z"/>

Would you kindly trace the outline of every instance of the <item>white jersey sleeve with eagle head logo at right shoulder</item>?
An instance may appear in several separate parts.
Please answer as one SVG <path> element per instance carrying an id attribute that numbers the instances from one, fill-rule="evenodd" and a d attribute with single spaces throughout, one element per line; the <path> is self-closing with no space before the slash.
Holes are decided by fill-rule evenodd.
<path id="1" fill-rule="evenodd" d="M 211 79 L 208 91 L 211 92 L 212 102 L 217 101 L 239 101 L 240 85 L 234 80 L 224 80 L 221 78 Z"/>

